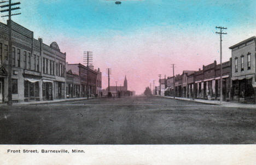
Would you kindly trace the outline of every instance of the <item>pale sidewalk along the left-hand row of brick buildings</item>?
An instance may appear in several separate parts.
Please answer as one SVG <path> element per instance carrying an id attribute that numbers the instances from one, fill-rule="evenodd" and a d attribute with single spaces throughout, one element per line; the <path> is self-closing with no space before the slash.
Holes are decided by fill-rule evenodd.
<path id="1" fill-rule="evenodd" d="M 104 97 L 90 97 L 89 99 L 100 99 Z M 20 103 L 13 103 L 13 105 L 31 105 L 31 104 L 47 104 L 47 103 L 59 103 L 59 102 L 66 102 L 66 101 L 80 101 L 85 100 L 87 97 L 79 97 L 79 98 L 66 98 L 66 99 L 55 99 L 53 101 L 34 101 L 34 102 L 20 102 Z M 0 104 L 1 105 L 7 105 L 7 103 Z"/>

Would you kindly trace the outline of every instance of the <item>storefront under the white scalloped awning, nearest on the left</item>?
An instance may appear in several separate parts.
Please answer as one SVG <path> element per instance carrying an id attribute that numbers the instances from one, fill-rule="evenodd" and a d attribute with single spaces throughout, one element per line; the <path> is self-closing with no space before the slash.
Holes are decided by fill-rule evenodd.
<path id="1" fill-rule="evenodd" d="M 24 101 L 40 101 L 39 79 L 24 79 Z"/>

